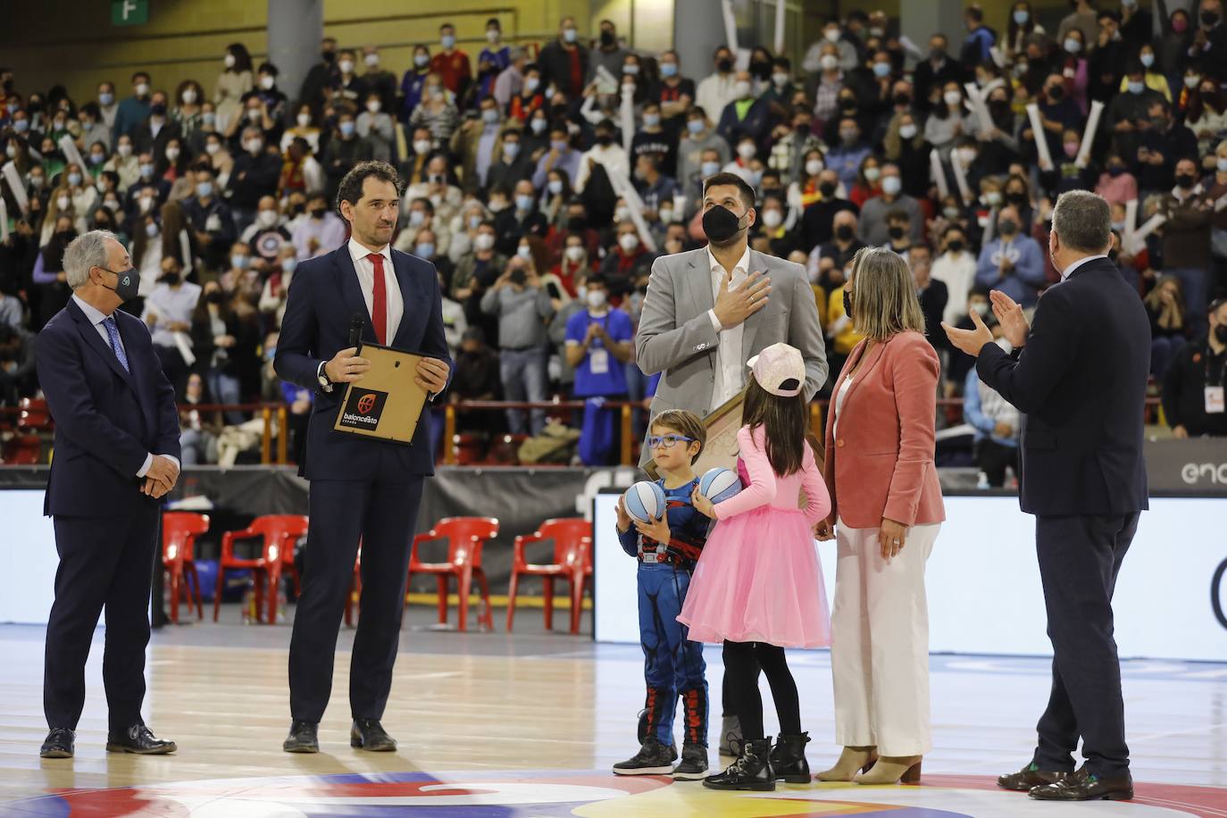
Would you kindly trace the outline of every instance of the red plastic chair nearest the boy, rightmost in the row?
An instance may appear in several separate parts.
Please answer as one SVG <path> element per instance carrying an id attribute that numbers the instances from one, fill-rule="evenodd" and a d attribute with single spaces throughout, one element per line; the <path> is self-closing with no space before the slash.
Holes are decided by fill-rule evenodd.
<path id="1" fill-rule="evenodd" d="M 553 562 L 535 564 L 528 562 L 530 543 L 553 540 Z M 520 575 L 540 576 L 545 592 L 545 629 L 553 628 L 553 580 L 564 579 L 571 584 L 571 633 L 579 633 L 584 589 L 591 575 L 593 524 L 583 518 L 546 520 L 535 532 L 515 537 L 512 558 L 512 581 L 507 594 L 507 632 L 512 632 L 515 619 L 515 595 Z"/>

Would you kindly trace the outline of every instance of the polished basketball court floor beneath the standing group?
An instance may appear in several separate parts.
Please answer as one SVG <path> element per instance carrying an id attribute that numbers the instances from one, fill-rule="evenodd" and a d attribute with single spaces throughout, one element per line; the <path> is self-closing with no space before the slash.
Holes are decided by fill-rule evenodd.
<path id="1" fill-rule="evenodd" d="M 427 627 L 432 616 L 418 607 L 406 616 L 383 720 L 400 742 L 396 753 L 348 746 L 353 632 L 342 628 L 318 755 L 281 752 L 290 724 L 287 624 L 237 624 L 227 606 L 220 624 L 155 632 L 145 719 L 178 742 L 179 752 L 166 757 L 104 752 L 99 629 L 76 758 L 67 760 L 38 758 L 47 730 L 43 628 L 0 627 L 0 816 L 1227 816 L 1227 665 L 1125 663 L 1134 802 L 1052 805 L 996 791 L 995 775 L 1029 759 L 1049 667 L 1042 659 L 979 656 L 931 659 L 935 748 L 920 787 L 720 793 L 610 773 L 636 751 L 637 646 L 545 633 L 540 610 L 519 612 L 514 634 L 497 616 L 494 633 L 438 632 Z M 560 630 L 564 619 L 556 621 Z M 718 727 L 719 650 L 708 648 L 707 660 Z M 823 769 L 838 753 L 829 657 L 794 651 L 790 665 L 812 737 L 810 764 Z"/>

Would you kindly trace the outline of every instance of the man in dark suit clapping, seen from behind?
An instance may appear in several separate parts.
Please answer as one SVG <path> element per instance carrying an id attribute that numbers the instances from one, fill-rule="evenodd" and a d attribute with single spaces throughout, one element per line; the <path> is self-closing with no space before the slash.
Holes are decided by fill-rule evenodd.
<path id="1" fill-rule="evenodd" d="M 998 785 L 1043 801 L 1128 800 L 1120 661 L 1112 592 L 1147 508 L 1142 408 L 1150 321 L 1117 266 L 1108 202 L 1061 194 L 1048 242 L 1061 282 L 1039 299 L 1034 326 L 1000 292 L 993 312 L 1015 346 L 1007 356 L 979 315 L 946 326 L 975 356 L 980 380 L 1025 412 L 1022 510 L 1036 515 L 1036 549 L 1053 641 L 1053 689 L 1031 764 Z M 1082 738 L 1083 766 L 1074 771 Z"/>

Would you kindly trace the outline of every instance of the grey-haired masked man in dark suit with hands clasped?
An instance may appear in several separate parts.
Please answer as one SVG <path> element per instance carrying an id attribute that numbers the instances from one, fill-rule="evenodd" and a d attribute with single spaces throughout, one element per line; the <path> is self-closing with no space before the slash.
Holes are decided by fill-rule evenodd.
<path id="1" fill-rule="evenodd" d="M 118 309 L 139 276 L 113 234 L 64 251 L 72 298 L 38 335 L 38 381 L 55 419 L 44 514 L 55 518 L 55 602 L 47 623 L 44 758 L 70 758 L 85 705 L 85 662 L 107 610 L 102 678 L 107 751 L 172 753 L 141 720 L 158 499 L 179 476 L 179 415 L 150 331 Z M 160 601 L 161 605 L 161 601 Z"/>

